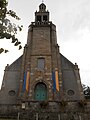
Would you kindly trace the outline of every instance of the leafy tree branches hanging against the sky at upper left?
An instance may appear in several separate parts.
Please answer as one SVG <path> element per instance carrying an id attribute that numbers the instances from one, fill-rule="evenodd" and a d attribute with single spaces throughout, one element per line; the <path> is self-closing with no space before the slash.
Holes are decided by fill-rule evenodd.
<path id="1" fill-rule="evenodd" d="M 20 20 L 20 18 L 16 15 L 16 13 L 12 10 L 7 9 L 8 2 L 7 0 L 0 0 L 0 39 L 11 39 L 14 46 L 19 46 L 19 50 L 22 48 L 21 42 L 16 38 L 16 34 L 18 31 L 22 30 L 22 25 L 16 25 L 12 23 L 8 16 L 15 18 L 16 20 Z M 8 50 L 4 48 L 0 48 L 0 53 L 7 53 Z"/>

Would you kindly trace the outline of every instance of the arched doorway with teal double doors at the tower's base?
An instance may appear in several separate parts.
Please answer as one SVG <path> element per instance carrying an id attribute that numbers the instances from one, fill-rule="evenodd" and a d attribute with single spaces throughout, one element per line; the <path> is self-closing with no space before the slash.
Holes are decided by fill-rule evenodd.
<path id="1" fill-rule="evenodd" d="M 35 100 L 43 101 L 47 100 L 47 87 L 44 83 L 38 83 L 35 86 Z"/>

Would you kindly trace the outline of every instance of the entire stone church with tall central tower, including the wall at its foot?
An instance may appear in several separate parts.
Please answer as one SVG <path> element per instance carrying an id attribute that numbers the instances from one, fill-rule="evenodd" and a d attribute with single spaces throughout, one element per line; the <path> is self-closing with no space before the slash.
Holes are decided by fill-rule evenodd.
<path id="1" fill-rule="evenodd" d="M 5 67 L 0 120 L 90 120 L 78 65 L 61 54 L 56 34 L 41 3 L 22 56 Z"/>

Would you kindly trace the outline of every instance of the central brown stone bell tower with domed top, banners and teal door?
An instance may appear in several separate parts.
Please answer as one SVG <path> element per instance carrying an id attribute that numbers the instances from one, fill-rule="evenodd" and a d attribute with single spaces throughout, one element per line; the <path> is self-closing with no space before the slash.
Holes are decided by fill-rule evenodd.
<path id="1" fill-rule="evenodd" d="M 56 26 L 44 3 L 35 12 L 24 48 L 19 97 L 24 100 L 60 100 L 61 67 Z"/>

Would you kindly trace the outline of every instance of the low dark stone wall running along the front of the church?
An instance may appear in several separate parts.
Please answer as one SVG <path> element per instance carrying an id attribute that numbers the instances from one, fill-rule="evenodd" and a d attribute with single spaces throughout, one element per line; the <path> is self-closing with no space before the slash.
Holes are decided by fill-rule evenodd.
<path id="1" fill-rule="evenodd" d="M 23 102 L 24 104 L 24 102 Z M 90 101 L 26 102 L 0 105 L 0 120 L 90 120 Z"/>

